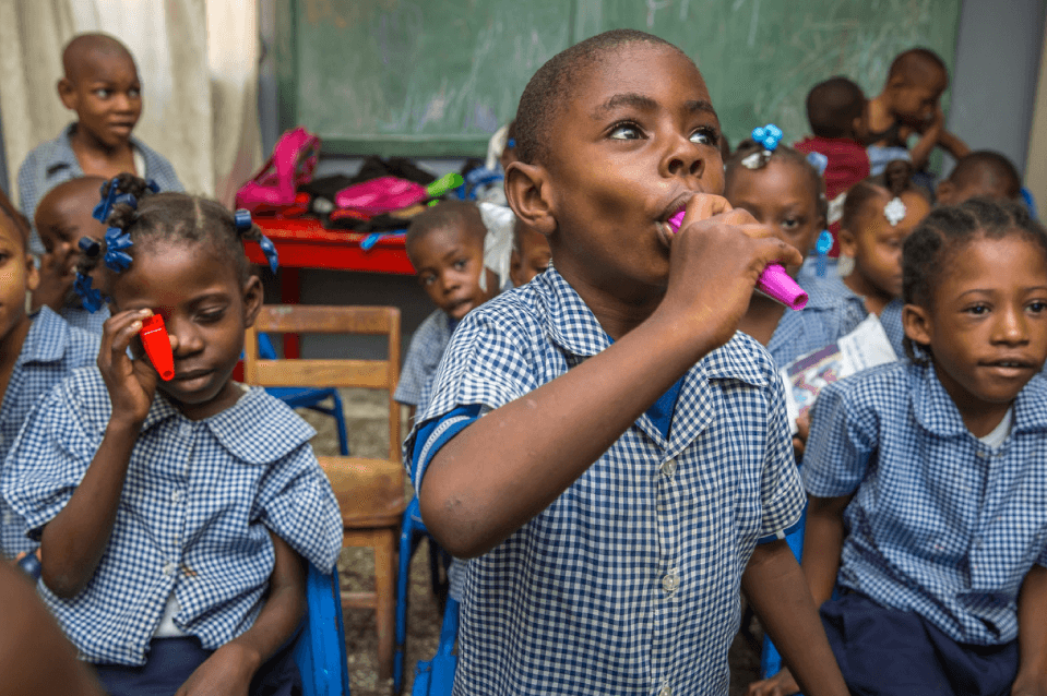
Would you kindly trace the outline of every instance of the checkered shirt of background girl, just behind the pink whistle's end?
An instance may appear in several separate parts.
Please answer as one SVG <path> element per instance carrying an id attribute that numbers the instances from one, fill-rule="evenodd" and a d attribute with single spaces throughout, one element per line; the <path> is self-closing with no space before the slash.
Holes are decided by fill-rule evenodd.
<path id="1" fill-rule="evenodd" d="M 868 314 L 861 298 L 853 292 L 849 297 L 834 292 L 832 287 L 805 281 L 807 307 L 799 312 L 785 310 L 768 343 L 768 352 L 780 368 L 846 336 Z"/>

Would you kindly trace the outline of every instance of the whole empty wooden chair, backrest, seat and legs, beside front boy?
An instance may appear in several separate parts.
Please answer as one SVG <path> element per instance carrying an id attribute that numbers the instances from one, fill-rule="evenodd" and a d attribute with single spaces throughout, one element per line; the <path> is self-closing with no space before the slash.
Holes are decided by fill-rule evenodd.
<path id="1" fill-rule="evenodd" d="M 364 334 L 385 336 L 384 360 L 264 360 L 258 334 Z M 400 376 L 400 310 L 393 307 L 263 307 L 243 347 L 248 384 L 264 387 L 365 387 L 389 400 L 385 458 L 319 457 L 342 508 L 343 545 L 374 553 L 374 591 L 342 592 L 344 608 L 371 608 L 378 625 L 379 679 L 393 673 L 396 613 L 396 545 L 407 500 L 401 463 L 400 405 L 393 400 Z"/>

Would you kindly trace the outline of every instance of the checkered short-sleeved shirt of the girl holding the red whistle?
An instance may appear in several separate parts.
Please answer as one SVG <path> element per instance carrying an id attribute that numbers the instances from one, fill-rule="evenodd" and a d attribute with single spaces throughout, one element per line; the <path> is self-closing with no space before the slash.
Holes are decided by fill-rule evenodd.
<path id="1" fill-rule="evenodd" d="M 82 368 L 29 413 L 2 492 L 35 538 L 83 479 L 110 411 L 102 374 Z M 261 388 L 200 421 L 158 393 L 94 576 L 73 599 L 38 586 L 81 657 L 144 664 L 171 591 L 181 608 L 176 626 L 206 649 L 250 628 L 273 571 L 267 530 L 330 573 L 342 548 L 342 516 L 309 445 L 313 434 Z"/>

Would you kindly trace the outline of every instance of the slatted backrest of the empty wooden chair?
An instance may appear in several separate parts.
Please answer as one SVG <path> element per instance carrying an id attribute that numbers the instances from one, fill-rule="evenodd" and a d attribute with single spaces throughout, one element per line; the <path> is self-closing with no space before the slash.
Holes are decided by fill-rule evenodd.
<path id="1" fill-rule="evenodd" d="M 258 334 L 361 334 L 385 336 L 384 360 L 263 360 Z M 255 386 L 364 387 L 382 389 L 389 401 L 389 459 L 400 461 L 400 405 L 393 399 L 400 379 L 400 310 L 395 307 L 273 304 L 262 307 L 247 329 L 243 379 Z"/>

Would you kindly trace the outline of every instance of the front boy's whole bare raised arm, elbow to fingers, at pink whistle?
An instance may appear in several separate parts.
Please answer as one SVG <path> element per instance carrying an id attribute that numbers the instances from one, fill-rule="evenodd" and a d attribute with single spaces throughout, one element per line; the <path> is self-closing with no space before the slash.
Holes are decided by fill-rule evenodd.
<path id="1" fill-rule="evenodd" d="M 489 551 L 550 505 L 680 375 L 730 339 L 768 263 L 799 261 L 748 213 L 725 211 L 719 196 L 691 200 L 671 242 L 668 290 L 646 321 L 436 454 L 421 515 L 452 555 Z"/>

